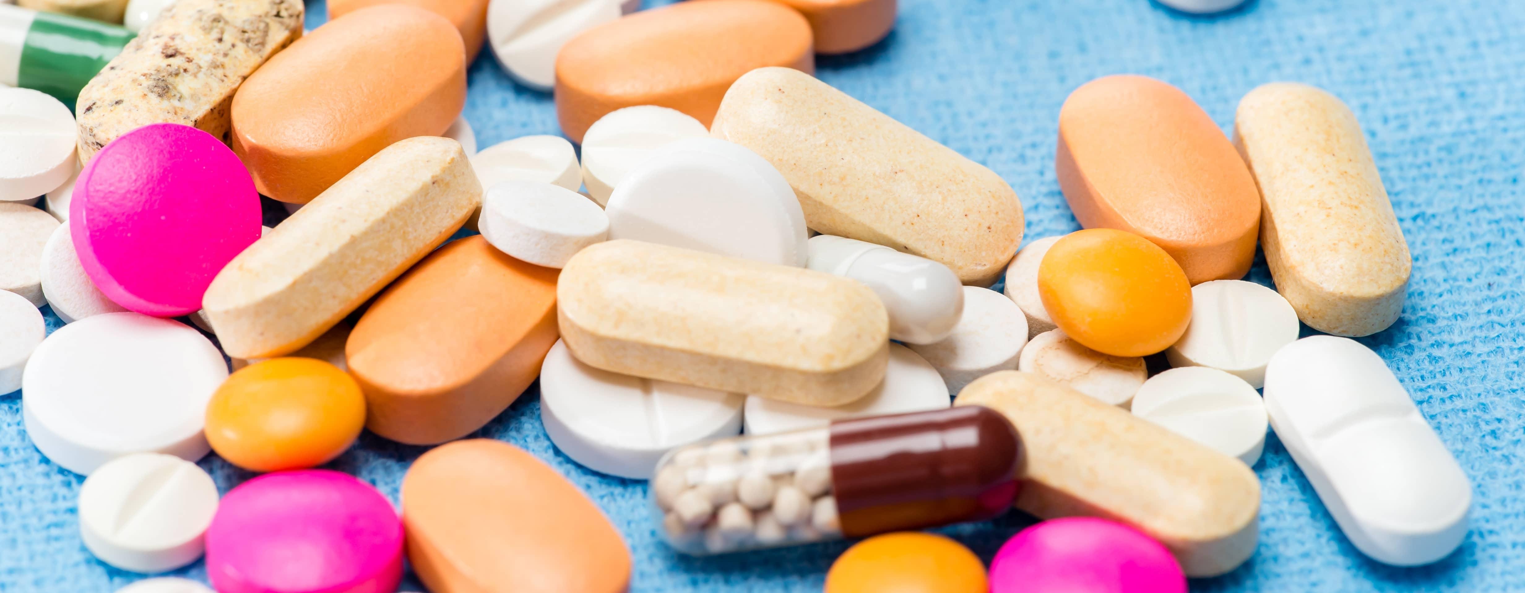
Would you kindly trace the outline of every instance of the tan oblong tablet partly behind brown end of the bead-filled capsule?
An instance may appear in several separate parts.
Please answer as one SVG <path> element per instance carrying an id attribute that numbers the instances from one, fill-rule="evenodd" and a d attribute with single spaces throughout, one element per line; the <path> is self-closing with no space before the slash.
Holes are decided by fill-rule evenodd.
<path id="1" fill-rule="evenodd" d="M 1127 523 L 1190 576 L 1226 573 L 1255 552 L 1260 480 L 1238 459 L 1028 372 L 985 375 L 953 405 L 985 405 L 1017 427 L 1022 511 Z"/>

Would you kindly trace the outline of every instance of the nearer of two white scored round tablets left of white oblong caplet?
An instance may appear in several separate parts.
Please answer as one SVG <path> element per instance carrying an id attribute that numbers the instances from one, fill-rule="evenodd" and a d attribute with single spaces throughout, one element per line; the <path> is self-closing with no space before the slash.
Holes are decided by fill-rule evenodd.
<path id="1" fill-rule="evenodd" d="M 1133 415 L 1255 465 L 1266 445 L 1266 404 L 1244 380 L 1188 366 L 1150 377 L 1133 395 Z"/>

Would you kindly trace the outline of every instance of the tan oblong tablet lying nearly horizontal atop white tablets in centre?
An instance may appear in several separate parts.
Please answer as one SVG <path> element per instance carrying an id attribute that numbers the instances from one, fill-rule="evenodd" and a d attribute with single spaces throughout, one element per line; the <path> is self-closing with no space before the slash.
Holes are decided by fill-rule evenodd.
<path id="1" fill-rule="evenodd" d="M 868 395 L 889 364 L 889 314 L 860 282 L 788 265 L 616 239 L 557 285 L 583 363 L 808 405 Z"/>

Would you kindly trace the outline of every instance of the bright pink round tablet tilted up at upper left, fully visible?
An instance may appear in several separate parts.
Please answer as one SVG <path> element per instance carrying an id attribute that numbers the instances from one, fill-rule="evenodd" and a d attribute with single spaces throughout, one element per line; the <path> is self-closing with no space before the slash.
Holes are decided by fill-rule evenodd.
<path id="1" fill-rule="evenodd" d="M 212 277 L 259 238 L 259 194 L 221 140 L 152 123 L 105 145 L 75 181 L 69 232 L 101 293 L 175 317 L 201 308 Z"/>

